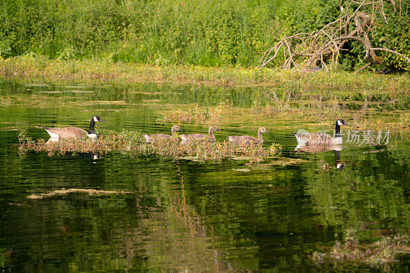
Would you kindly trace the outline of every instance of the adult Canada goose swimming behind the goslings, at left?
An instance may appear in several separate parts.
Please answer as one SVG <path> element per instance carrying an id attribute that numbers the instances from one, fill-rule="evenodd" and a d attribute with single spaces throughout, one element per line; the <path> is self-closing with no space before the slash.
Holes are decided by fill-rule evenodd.
<path id="1" fill-rule="evenodd" d="M 70 139 L 70 138 L 82 138 L 85 134 L 90 139 L 97 139 L 97 134 L 94 131 L 94 124 L 96 122 L 104 122 L 100 117 L 94 116 L 91 118 L 90 128 L 88 131 L 83 130 L 77 127 L 64 127 L 64 128 L 47 128 L 42 126 L 45 129 L 51 138 L 54 139 Z M 104 122 L 105 123 L 105 122 Z"/>

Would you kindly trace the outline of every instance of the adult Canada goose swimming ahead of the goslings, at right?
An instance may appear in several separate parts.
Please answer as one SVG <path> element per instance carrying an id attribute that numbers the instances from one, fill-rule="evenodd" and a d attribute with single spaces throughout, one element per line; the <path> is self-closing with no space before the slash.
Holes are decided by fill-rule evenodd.
<path id="1" fill-rule="evenodd" d="M 342 136 L 340 134 L 341 125 L 350 125 L 342 119 L 336 121 L 335 138 L 332 138 L 327 133 L 309 133 L 309 132 L 298 132 L 292 133 L 295 135 L 296 140 L 299 144 L 309 144 L 309 145 L 340 145 L 343 143 Z"/>

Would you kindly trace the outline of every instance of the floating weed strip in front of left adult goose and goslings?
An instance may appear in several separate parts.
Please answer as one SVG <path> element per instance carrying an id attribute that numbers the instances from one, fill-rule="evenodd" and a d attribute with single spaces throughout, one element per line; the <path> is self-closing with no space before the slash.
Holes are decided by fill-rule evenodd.
<path id="1" fill-rule="evenodd" d="M 216 143 L 190 141 L 182 145 L 178 134 L 168 140 L 156 139 L 152 143 L 147 143 L 143 135 L 141 131 L 124 130 L 119 134 L 101 135 L 96 141 L 85 137 L 46 142 L 44 139 L 33 141 L 23 130 L 18 136 L 19 153 L 24 156 L 28 151 L 46 151 L 49 156 L 54 156 L 86 152 L 103 154 L 117 150 L 131 157 L 154 154 L 160 158 L 172 158 L 173 160 L 184 158 L 202 162 L 206 160 L 220 162 L 226 157 L 247 156 L 251 164 L 261 161 L 263 157 L 281 155 L 281 145 L 275 143 L 268 148 L 259 145 L 236 146 L 228 141 Z"/>

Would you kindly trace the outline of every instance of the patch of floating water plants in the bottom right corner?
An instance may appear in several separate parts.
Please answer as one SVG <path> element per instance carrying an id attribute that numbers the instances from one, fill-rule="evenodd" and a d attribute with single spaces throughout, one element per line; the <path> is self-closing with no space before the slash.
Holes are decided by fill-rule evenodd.
<path id="1" fill-rule="evenodd" d="M 410 254 L 410 237 L 395 235 L 383 237 L 373 244 L 358 240 L 356 230 L 346 230 L 345 242 L 336 242 L 329 253 L 315 252 L 310 257 L 317 265 L 333 264 L 342 269 L 348 266 L 370 266 L 390 270 L 399 255 Z"/>

